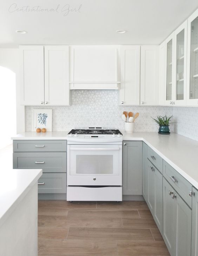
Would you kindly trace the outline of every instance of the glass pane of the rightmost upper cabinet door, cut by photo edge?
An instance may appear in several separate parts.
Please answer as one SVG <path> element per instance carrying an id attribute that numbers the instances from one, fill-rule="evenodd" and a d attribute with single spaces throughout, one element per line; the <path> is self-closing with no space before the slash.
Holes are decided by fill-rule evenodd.
<path id="1" fill-rule="evenodd" d="M 198 99 L 198 17 L 191 22 L 190 99 Z"/>

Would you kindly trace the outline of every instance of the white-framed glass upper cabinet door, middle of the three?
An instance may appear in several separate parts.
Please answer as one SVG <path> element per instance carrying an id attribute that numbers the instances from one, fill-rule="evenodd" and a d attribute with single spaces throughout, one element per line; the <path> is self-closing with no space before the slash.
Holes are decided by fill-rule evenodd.
<path id="1" fill-rule="evenodd" d="M 187 20 L 174 31 L 174 101 L 186 105 Z"/>

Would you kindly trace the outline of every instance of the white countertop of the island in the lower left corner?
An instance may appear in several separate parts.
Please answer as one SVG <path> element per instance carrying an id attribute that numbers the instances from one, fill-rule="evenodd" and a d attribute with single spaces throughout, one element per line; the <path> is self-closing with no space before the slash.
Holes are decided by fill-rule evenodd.
<path id="1" fill-rule="evenodd" d="M 14 185 L 14 182 L 16 187 L 11 190 L 8 189 L 7 193 L 0 189 L 0 226 L 42 175 L 42 169 L 14 169 L 9 172 L 8 170 L 5 171 L 7 171 L 7 174 L 4 173 L 1 176 L 10 177 L 7 187 Z M 3 180 L 5 181 L 4 178 Z"/>

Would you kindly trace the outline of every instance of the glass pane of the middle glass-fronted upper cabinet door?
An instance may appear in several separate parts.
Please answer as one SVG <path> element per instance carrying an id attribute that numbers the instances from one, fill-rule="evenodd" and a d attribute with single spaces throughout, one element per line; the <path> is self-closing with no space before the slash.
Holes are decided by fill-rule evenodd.
<path id="1" fill-rule="evenodd" d="M 176 99 L 184 99 L 184 29 L 177 35 Z"/>

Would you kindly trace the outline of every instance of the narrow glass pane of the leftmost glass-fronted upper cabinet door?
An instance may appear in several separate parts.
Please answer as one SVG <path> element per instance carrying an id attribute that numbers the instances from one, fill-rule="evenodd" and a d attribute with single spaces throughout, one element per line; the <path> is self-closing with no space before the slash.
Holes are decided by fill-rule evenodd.
<path id="1" fill-rule="evenodd" d="M 167 43 L 166 100 L 172 99 L 172 39 Z"/>

